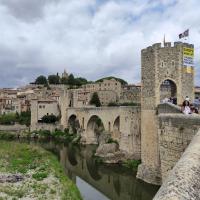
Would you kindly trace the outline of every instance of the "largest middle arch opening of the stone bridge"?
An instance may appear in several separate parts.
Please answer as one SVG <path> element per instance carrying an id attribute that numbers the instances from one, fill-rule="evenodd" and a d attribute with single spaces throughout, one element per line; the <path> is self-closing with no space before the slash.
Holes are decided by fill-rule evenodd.
<path id="1" fill-rule="evenodd" d="M 97 115 L 92 115 L 87 123 L 86 134 L 88 136 L 87 139 L 90 139 L 90 143 L 99 142 L 100 133 L 105 130 L 105 126 L 101 118 Z"/>

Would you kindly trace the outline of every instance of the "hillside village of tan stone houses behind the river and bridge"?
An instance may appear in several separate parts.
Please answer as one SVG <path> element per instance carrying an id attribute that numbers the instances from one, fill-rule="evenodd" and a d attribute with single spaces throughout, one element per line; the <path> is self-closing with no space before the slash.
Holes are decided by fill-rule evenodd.
<path id="1" fill-rule="evenodd" d="M 62 78 L 67 80 L 66 71 Z M 41 110 L 38 119 L 43 115 L 53 114 L 58 116 L 61 105 L 61 95 L 68 92 L 69 107 L 87 107 L 94 92 L 97 92 L 102 106 L 126 105 L 140 103 L 140 85 L 122 84 L 115 78 L 102 79 L 98 82 L 87 83 L 79 87 L 67 84 L 36 84 L 12 89 L 0 90 L 0 114 L 28 112 L 31 110 L 31 101 L 37 100 Z M 34 109 L 34 108 L 33 108 Z"/>

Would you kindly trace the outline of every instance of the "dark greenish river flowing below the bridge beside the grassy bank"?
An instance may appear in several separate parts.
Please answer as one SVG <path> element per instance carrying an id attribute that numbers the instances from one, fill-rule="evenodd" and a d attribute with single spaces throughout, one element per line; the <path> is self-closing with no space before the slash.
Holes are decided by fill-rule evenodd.
<path id="1" fill-rule="evenodd" d="M 84 200 L 151 200 L 159 189 L 136 179 L 136 173 L 126 167 L 95 162 L 92 156 L 94 145 L 79 147 L 53 141 L 36 143 L 58 157 Z"/>

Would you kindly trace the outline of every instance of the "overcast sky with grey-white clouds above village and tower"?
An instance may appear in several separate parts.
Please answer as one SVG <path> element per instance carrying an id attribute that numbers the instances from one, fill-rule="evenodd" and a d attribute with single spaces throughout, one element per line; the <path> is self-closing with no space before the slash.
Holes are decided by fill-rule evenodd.
<path id="1" fill-rule="evenodd" d="M 61 73 L 140 82 L 140 51 L 190 28 L 200 84 L 199 0 L 0 0 L 0 87 Z"/>

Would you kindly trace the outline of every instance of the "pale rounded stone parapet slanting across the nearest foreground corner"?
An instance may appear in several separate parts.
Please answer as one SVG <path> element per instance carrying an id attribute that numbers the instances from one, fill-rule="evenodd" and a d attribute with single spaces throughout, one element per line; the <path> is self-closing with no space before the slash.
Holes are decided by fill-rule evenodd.
<path id="1" fill-rule="evenodd" d="M 191 120 L 189 120 L 191 121 Z M 194 132 L 191 131 L 191 135 Z M 200 199 L 200 131 L 176 163 L 154 200 Z"/>

